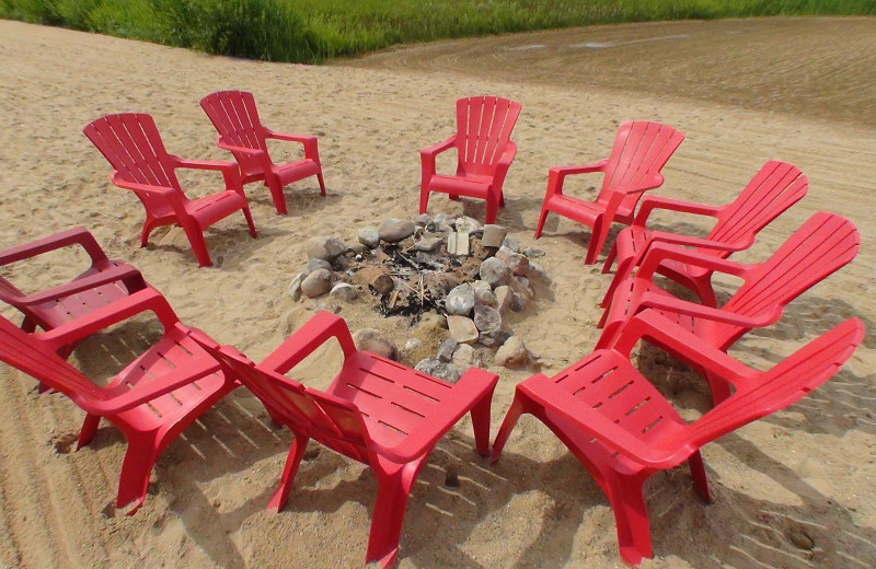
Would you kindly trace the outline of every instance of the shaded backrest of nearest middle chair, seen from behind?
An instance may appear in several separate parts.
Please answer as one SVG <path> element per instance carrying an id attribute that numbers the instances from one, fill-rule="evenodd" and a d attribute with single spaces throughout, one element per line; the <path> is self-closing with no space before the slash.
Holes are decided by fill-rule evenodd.
<path id="1" fill-rule="evenodd" d="M 370 464 L 368 430 L 355 405 L 275 372 L 261 370 L 231 346 L 219 349 L 201 342 L 219 363 L 245 385 L 274 416 L 288 422 L 292 430 L 303 432 L 325 446 L 356 461 Z"/>

